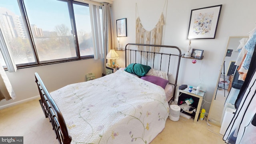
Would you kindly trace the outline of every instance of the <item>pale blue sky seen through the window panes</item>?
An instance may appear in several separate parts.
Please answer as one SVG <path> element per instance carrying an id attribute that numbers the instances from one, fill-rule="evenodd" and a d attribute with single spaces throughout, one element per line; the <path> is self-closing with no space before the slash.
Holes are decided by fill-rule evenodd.
<path id="1" fill-rule="evenodd" d="M 30 24 L 36 24 L 42 30 L 54 31 L 54 26 L 65 24 L 71 30 L 67 2 L 59 0 L 24 0 Z M 5 7 L 21 16 L 17 0 L 1 0 L 0 7 Z M 74 4 L 75 20 L 78 30 L 90 32 L 89 8 Z"/>

